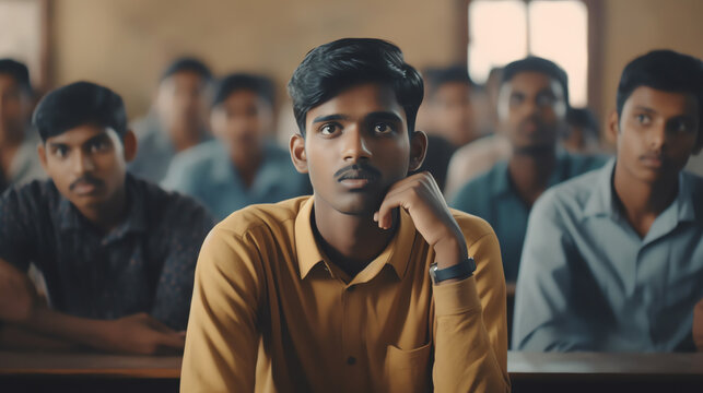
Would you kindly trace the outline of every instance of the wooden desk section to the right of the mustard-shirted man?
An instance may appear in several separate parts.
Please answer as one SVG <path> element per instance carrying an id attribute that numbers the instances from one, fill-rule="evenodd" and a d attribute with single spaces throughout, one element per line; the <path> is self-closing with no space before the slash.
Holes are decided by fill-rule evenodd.
<path id="1" fill-rule="evenodd" d="M 703 354 L 517 353 L 514 392 L 703 392 Z"/>

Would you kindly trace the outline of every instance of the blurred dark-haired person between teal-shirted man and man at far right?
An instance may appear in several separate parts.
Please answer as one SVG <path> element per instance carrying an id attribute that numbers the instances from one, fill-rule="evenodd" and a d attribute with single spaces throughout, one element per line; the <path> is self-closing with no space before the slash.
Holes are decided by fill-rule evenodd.
<path id="1" fill-rule="evenodd" d="M 596 115 L 588 108 L 570 108 L 567 128 L 561 144 L 570 153 L 596 154 L 600 152 L 600 127 Z"/>

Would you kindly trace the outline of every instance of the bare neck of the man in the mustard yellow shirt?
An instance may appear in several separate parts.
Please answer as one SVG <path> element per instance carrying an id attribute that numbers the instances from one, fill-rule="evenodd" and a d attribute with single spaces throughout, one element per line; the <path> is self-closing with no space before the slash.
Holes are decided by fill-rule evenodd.
<path id="1" fill-rule="evenodd" d="M 325 254 L 353 277 L 388 246 L 398 227 L 398 212 L 394 213 L 392 228 L 384 230 L 373 213 L 342 214 L 316 199 L 312 223 Z"/>

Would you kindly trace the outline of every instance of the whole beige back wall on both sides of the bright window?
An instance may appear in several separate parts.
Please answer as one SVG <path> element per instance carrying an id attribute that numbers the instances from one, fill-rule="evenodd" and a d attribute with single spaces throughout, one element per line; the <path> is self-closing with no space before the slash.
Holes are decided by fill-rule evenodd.
<path id="1" fill-rule="evenodd" d="M 703 1 L 591 0 L 601 10 L 600 96 L 614 108 L 624 64 L 669 47 L 703 57 Z M 130 117 L 149 108 L 162 68 L 192 53 L 215 72 L 260 71 L 288 82 L 304 53 L 344 36 L 398 44 L 419 68 L 461 60 L 464 0 L 60 0 L 51 2 L 55 84 L 87 79 L 116 88 Z"/>

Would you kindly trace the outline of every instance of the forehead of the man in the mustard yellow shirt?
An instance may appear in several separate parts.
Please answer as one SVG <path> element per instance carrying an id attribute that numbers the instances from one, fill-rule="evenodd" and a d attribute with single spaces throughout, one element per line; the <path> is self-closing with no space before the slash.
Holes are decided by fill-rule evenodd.
<path id="1" fill-rule="evenodd" d="M 306 116 L 306 123 L 317 117 L 341 115 L 349 118 L 363 118 L 374 112 L 392 112 L 407 121 L 405 110 L 392 88 L 385 84 L 364 83 L 353 85 L 325 103 L 312 108 Z"/>

